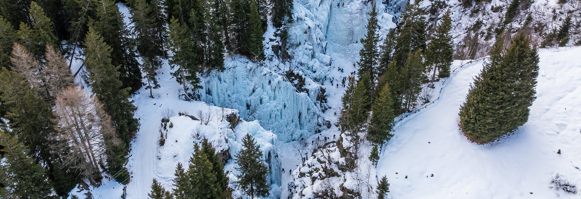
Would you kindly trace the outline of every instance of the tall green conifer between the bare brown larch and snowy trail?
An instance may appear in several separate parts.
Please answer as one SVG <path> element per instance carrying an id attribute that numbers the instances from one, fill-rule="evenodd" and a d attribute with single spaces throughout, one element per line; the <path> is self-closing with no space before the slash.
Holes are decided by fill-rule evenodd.
<path id="1" fill-rule="evenodd" d="M 107 149 L 107 169 L 109 174 L 117 174 L 124 168 L 127 162 L 127 150 L 130 141 L 135 136 L 139 127 L 139 122 L 134 118 L 135 106 L 129 100 L 130 88 L 123 89 L 123 83 L 118 79 L 119 67 L 112 64 L 111 47 L 107 46 L 104 39 L 98 32 L 89 27 L 85 38 L 86 46 L 84 51 L 85 65 L 91 78 L 92 91 L 96 97 L 105 105 L 105 111 L 113 121 L 116 128 L 117 137 L 123 141 L 118 146 Z M 127 183 L 129 174 L 127 170 L 120 172 L 115 178 L 121 183 Z"/>

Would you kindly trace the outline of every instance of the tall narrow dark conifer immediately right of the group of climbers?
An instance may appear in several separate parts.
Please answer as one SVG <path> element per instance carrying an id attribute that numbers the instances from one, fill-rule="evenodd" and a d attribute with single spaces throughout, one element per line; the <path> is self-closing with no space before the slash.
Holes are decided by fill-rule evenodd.
<path id="1" fill-rule="evenodd" d="M 377 20 L 377 10 L 375 8 L 375 4 L 371 12 L 369 14 L 369 20 L 367 22 L 367 34 L 365 35 L 364 39 L 361 39 L 361 43 L 363 44 L 363 49 L 359 51 L 359 55 L 361 59 L 357 62 L 359 65 L 359 70 L 357 71 L 357 76 L 359 79 L 362 79 L 363 74 L 369 75 L 369 89 L 368 96 L 370 100 L 374 100 L 374 93 L 373 93 L 373 86 L 375 86 L 375 79 L 377 78 L 377 65 L 378 65 L 378 58 L 379 58 L 379 51 L 377 49 L 377 43 L 379 42 L 379 35 L 377 31 L 379 29 L 378 20 Z"/>

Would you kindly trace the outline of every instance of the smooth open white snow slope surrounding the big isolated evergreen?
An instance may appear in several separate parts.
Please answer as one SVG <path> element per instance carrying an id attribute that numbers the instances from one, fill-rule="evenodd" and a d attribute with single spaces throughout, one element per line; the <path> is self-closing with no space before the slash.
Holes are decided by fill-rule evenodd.
<path id="1" fill-rule="evenodd" d="M 557 51 L 540 50 L 537 100 L 528 123 L 492 145 L 469 142 L 458 130 L 460 105 L 482 61 L 453 73 L 440 101 L 401 123 L 383 149 L 378 176 L 388 177 L 391 196 L 555 198 L 548 188 L 552 175 L 580 180 L 575 167 L 581 166 L 581 102 L 575 98 L 581 95 L 581 64 L 575 55 L 581 47 Z"/>

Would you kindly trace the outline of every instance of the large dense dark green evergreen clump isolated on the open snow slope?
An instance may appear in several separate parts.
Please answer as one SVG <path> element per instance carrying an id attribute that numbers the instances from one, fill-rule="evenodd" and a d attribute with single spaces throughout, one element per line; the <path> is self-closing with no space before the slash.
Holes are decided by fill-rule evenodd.
<path id="1" fill-rule="evenodd" d="M 529 38 L 517 35 L 501 53 L 502 42 L 497 42 L 460 110 L 462 131 L 477 143 L 494 141 L 526 123 L 536 98 L 539 57 Z"/>

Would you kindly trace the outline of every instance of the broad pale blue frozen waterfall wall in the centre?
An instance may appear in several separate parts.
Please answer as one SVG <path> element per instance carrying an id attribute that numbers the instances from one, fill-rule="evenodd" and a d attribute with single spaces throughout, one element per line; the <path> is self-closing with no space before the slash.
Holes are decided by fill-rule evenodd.
<path id="1" fill-rule="evenodd" d="M 225 71 L 203 79 L 202 101 L 238 109 L 244 120 L 259 120 L 282 141 L 315 132 L 318 122 L 318 87 L 298 93 L 285 76 L 277 75 L 247 58 L 225 62 Z"/>

